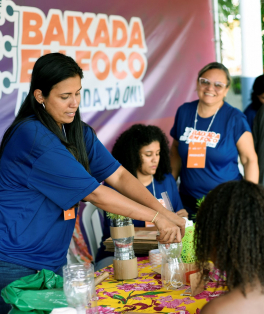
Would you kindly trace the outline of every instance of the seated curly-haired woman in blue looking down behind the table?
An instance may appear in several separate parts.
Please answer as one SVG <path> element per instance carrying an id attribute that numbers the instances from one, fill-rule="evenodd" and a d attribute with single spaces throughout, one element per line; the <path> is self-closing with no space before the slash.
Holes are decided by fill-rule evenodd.
<path id="1" fill-rule="evenodd" d="M 112 155 L 161 202 L 161 193 L 167 191 L 173 210 L 181 217 L 188 217 L 171 174 L 168 144 L 166 135 L 157 126 L 135 124 L 118 137 Z M 106 215 L 104 221 L 103 241 L 110 237 Z M 135 227 L 145 227 L 145 222 L 133 220 L 133 223 Z M 111 254 L 104 249 L 101 243 L 96 262 Z"/>

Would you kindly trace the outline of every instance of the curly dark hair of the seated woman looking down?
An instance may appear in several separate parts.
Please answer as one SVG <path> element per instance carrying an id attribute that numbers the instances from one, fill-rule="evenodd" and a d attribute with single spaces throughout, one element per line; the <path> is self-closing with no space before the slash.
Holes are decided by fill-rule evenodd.
<path id="1" fill-rule="evenodd" d="M 154 125 L 134 124 L 124 131 L 116 140 L 112 155 L 133 176 L 141 167 L 139 150 L 154 141 L 160 143 L 160 162 L 154 175 L 157 181 L 164 180 L 164 174 L 171 173 L 169 158 L 169 141 L 162 130 Z"/>

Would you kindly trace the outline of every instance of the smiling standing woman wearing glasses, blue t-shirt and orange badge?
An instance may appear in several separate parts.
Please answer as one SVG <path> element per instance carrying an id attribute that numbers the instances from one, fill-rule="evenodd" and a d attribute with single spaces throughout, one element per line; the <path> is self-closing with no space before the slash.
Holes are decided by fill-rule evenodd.
<path id="1" fill-rule="evenodd" d="M 178 108 L 171 129 L 172 174 L 180 176 L 180 196 L 189 217 L 196 213 L 197 199 L 220 183 L 244 177 L 258 182 L 259 169 L 246 117 L 224 101 L 230 87 L 227 68 L 217 62 L 198 73 L 198 100 Z"/>

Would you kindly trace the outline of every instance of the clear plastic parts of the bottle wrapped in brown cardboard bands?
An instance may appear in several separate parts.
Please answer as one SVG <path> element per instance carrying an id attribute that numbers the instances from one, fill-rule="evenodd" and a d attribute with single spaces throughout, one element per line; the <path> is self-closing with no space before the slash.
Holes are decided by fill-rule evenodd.
<path id="1" fill-rule="evenodd" d="M 111 227 L 125 227 L 132 225 L 131 218 L 110 219 Z M 116 260 L 129 260 L 135 258 L 135 252 L 133 249 L 134 237 L 113 239 L 115 246 L 114 259 Z"/>

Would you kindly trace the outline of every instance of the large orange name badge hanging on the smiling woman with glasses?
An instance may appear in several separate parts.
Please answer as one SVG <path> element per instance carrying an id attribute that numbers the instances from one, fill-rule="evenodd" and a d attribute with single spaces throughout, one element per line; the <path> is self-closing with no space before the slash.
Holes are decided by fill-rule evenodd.
<path id="1" fill-rule="evenodd" d="M 206 142 L 190 142 L 187 168 L 205 168 Z"/>

